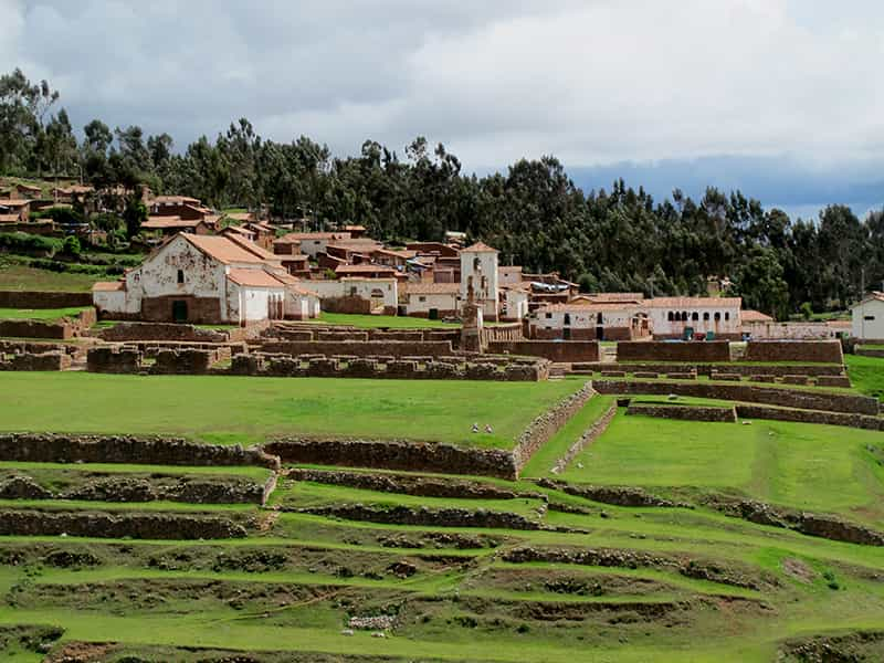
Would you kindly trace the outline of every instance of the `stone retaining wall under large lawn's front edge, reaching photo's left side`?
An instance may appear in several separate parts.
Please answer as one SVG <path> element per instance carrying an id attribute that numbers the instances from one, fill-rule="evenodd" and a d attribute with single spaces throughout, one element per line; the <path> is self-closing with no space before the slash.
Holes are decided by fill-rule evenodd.
<path id="1" fill-rule="evenodd" d="M 198 444 L 178 438 L 131 435 L 0 434 L 0 460 L 28 463 L 131 463 L 278 470 L 280 460 L 239 444 Z"/>

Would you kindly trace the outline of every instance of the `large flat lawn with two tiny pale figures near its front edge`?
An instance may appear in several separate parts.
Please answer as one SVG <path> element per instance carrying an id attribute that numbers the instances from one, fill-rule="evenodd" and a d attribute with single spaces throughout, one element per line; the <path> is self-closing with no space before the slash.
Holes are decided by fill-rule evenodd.
<path id="1" fill-rule="evenodd" d="M 221 443 L 304 433 L 508 449 L 532 419 L 582 383 L 3 372 L 0 430 Z M 474 422 L 492 424 L 494 434 L 472 433 Z"/>

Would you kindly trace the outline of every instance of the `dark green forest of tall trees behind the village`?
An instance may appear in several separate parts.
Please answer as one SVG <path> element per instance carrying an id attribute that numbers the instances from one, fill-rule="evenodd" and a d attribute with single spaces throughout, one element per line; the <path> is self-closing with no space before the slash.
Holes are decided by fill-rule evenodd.
<path id="1" fill-rule="evenodd" d="M 884 211 L 860 220 L 831 206 L 802 221 L 739 191 L 709 188 L 692 200 L 675 190 L 655 201 L 620 180 L 585 192 L 551 156 L 476 177 L 422 137 L 402 156 L 366 140 L 358 156 L 340 158 L 305 136 L 263 139 L 244 118 L 180 151 L 168 134 L 112 130 L 101 119 L 77 139 L 59 98 L 19 70 L 0 77 L 0 175 L 145 182 L 217 208 L 269 203 L 276 217 L 306 217 L 316 229 L 361 223 L 391 243 L 465 231 L 499 249 L 505 264 L 556 270 L 586 291 L 696 295 L 707 277 L 727 276 L 745 307 L 780 318 L 844 307 L 863 283 L 884 280 Z"/>

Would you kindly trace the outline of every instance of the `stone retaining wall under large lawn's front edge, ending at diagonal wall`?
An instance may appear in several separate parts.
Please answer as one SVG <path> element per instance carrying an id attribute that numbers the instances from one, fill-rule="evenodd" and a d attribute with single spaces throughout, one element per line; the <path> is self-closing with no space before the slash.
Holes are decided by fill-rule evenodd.
<path id="1" fill-rule="evenodd" d="M 269 442 L 264 451 L 283 463 L 516 477 L 513 455 L 497 449 L 404 440 L 284 438 Z"/>

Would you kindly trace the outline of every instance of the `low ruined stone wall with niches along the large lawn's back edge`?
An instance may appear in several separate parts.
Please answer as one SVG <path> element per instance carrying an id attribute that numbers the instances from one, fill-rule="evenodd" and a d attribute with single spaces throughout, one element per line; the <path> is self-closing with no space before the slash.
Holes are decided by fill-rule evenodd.
<path id="1" fill-rule="evenodd" d="M 234 355 L 230 372 L 238 376 L 292 378 L 370 378 L 399 380 L 532 381 L 549 377 L 549 362 L 505 357 L 325 357 L 308 355 Z"/>

